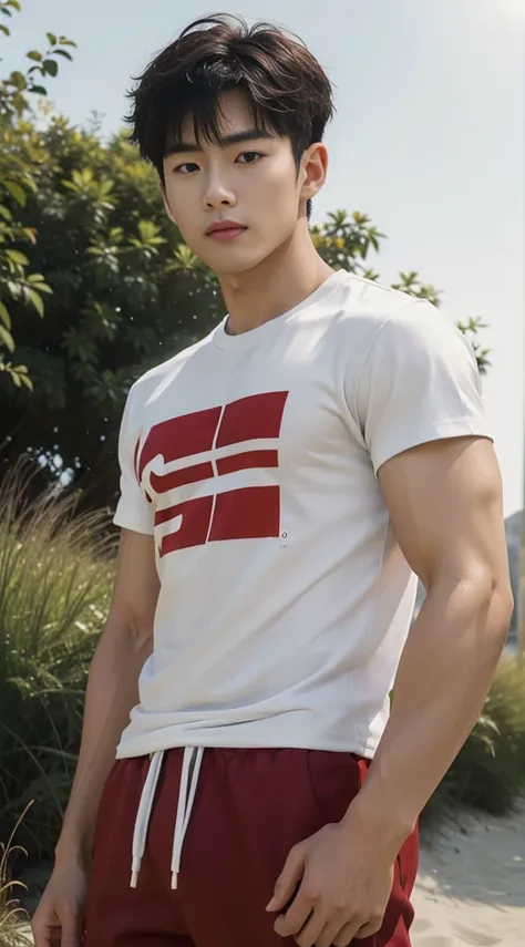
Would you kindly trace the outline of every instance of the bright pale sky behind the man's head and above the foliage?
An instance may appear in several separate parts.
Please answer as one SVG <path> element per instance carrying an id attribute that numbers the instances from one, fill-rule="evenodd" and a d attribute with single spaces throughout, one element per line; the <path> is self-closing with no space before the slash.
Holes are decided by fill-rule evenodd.
<path id="1" fill-rule="evenodd" d="M 3 71 L 45 31 L 79 44 L 49 83 L 75 123 L 127 111 L 124 92 L 191 19 L 226 9 L 298 33 L 336 85 L 329 182 L 315 219 L 369 214 L 389 239 L 370 258 L 390 284 L 418 270 L 456 318 L 480 316 L 505 513 L 523 506 L 525 0 L 22 0 Z M 8 52 L 9 50 L 9 52 Z"/>

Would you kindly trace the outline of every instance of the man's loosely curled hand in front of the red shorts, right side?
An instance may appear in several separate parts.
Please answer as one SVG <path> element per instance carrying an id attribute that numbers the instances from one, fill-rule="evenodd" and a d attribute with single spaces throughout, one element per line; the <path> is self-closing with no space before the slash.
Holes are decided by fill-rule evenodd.
<path id="1" fill-rule="evenodd" d="M 286 914 L 274 928 L 294 937 L 299 947 L 347 947 L 354 937 L 369 937 L 381 928 L 392 891 L 393 866 L 378 862 L 352 846 L 348 830 L 327 825 L 296 845 L 277 881 L 268 912 L 282 910 L 298 884 Z"/>

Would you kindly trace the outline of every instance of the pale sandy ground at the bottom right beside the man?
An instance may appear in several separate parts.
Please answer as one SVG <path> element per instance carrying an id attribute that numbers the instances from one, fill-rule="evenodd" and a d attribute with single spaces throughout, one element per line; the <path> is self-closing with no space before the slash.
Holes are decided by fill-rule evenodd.
<path id="1" fill-rule="evenodd" d="M 413 947 L 525 947 L 525 805 L 423 844 L 413 900 Z"/>

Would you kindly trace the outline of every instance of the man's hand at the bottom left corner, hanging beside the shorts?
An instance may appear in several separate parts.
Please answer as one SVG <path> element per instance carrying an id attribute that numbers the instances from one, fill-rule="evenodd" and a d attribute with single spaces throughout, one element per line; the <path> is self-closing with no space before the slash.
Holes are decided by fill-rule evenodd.
<path id="1" fill-rule="evenodd" d="M 35 947 L 80 947 L 86 888 L 80 864 L 54 868 L 31 923 Z"/>

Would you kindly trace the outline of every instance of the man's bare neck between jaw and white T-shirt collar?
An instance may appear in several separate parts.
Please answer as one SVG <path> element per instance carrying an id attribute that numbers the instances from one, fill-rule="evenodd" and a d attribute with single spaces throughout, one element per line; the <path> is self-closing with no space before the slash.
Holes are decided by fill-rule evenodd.
<path id="1" fill-rule="evenodd" d="M 233 336 L 281 316 L 315 292 L 332 269 L 317 253 L 307 230 L 296 233 L 258 267 L 219 277 Z"/>

